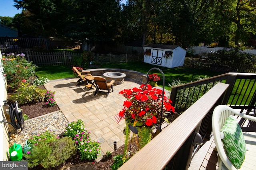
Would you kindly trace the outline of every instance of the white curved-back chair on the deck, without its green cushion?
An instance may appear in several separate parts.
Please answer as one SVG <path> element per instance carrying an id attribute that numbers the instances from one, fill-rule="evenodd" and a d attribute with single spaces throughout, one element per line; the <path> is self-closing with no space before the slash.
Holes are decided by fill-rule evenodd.
<path id="1" fill-rule="evenodd" d="M 218 170 L 220 169 L 236 170 L 235 166 L 233 166 L 233 164 L 230 162 L 226 154 L 226 151 L 222 144 L 221 135 L 220 135 L 221 129 L 226 119 L 231 114 L 234 116 L 238 115 L 242 118 L 256 121 L 256 117 L 239 113 L 226 105 L 219 105 L 214 109 L 213 115 L 212 115 L 212 131 L 213 131 L 214 141 L 216 144 L 216 149 L 218 151 L 218 164 L 219 164 Z M 256 133 L 255 131 L 243 132 L 243 135 L 246 143 L 246 148 L 248 148 L 249 150 L 246 151 L 245 160 L 240 169 L 255 170 L 256 169 Z"/>

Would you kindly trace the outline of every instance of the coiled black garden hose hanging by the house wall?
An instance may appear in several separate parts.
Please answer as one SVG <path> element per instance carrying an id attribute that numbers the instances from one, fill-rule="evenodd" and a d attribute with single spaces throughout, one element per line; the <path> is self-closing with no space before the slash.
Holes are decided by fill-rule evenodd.
<path id="1" fill-rule="evenodd" d="M 9 113 L 12 125 L 14 125 L 15 129 L 24 129 L 24 117 L 22 111 L 19 110 L 18 102 L 15 101 L 14 106 L 11 104 L 9 106 Z"/>

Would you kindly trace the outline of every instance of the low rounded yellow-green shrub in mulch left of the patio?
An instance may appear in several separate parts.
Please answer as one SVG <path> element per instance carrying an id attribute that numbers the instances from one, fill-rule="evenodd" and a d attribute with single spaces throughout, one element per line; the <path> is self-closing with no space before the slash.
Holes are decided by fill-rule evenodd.
<path id="1" fill-rule="evenodd" d="M 18 104 L 32 104 L 44 101 L 46 90 L 36 85 L 29 86 L 28 83 L 21 83 L 16 93 L 10 96 L 10 100 L 17 100 Z"/>

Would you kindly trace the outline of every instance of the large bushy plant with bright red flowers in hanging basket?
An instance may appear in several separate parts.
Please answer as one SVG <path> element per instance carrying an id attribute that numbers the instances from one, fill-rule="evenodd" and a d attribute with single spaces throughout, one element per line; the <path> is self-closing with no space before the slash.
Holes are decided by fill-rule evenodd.
<path id="1" fill-rule="evenodd" d="M 120 92 L 127 100 L 119 116 L 125 117 L 128 124 L 138 127 L 152 127 L 160 121 L 162 107 L 162 90 L 142 84 L 140 88 L 124 89 Z M 165 92 L 164 92 L 165 94 Z M 172 114 L 172 101 L 164 96 L 163 115 Z"/>

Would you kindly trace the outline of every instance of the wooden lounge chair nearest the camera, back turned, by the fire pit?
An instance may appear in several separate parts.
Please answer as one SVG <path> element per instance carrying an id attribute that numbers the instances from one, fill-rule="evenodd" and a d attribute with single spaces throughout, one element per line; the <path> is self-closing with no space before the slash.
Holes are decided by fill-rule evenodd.
<path id="1" fill-rule="evenodd" d="M 112 92 L 114 91 L 114 89 L 113 89 L 113 83 L 114 82 L 115 82 L 115 80 L 111 80 L 110 83 L 107 83 L 106 78 L 94 77 L 94 84 L 96 85 L 96 91 L 94 93 L 94 96 L 100 90 L 106 90 L 107 91 L 106 92 L 107 93 L 106 98 L 107 98 L 110 90 L 112 89 Z"/>

